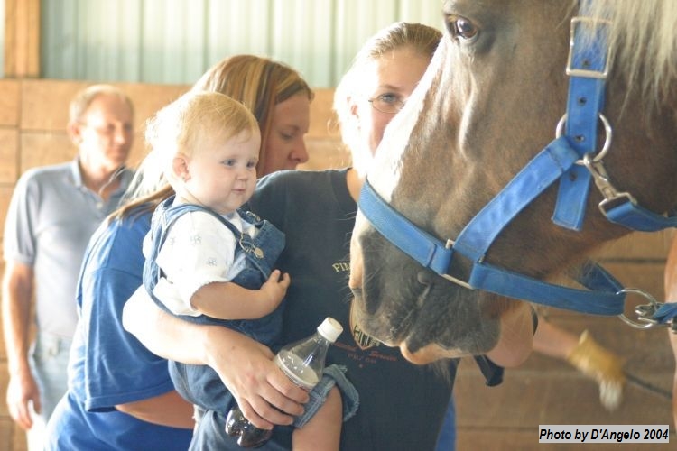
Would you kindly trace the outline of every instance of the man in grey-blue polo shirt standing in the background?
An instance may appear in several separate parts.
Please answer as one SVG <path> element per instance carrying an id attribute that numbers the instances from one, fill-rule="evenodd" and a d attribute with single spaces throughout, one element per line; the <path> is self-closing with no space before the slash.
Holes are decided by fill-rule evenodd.
<path id="1" fill-rule="evenodd" d="M 42 450 L 44 426 L 67 390 L 75 290 L 89 237 L 122 198 L 134 107 L 117 87 L 95 85 L 70 102 L 73 161 L 27 170 L 5 220 L 2 319 L 9 369 L 7 407 Z M 36 336 L 32 340 L 32 299 Z"/>

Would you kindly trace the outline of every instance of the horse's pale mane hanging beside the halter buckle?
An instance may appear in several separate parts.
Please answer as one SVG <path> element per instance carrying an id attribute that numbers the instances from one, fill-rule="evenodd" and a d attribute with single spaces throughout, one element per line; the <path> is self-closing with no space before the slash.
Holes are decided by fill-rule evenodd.
<path id="1" fill-rule="evenodd" d="M 589 15 L 612 21 L 615 68 L 628 85 L 654 101 L 668 94 L 677 78 L 677 1 L 592 0 Z"/>

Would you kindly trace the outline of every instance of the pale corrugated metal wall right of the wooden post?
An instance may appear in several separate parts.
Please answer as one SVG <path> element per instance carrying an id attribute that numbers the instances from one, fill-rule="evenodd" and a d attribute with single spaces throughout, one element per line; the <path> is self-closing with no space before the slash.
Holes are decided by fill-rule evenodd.
<path id="1" fill-rule="evenodd" d="M 190 84 L 253 53 L 334 87 L 366 39 L 398 20 L 440 27 L 441 2 L 42 0 L 42 77 Z"/>

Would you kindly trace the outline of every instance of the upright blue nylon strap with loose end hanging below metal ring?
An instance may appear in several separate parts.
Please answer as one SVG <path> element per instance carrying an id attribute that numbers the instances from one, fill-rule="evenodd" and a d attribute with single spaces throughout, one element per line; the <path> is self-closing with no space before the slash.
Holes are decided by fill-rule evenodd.
<path id="1" fill-rule="evenodd" d="M 604 108 L 605 79 L 589 76 L 589 72 L 602 73 L 607 65 L 607 24 L 590 22 L 571 24 L 570 80 L 567 100 L 565 135 L 582 158 L 595 152 L 597 146 L 598 115 Z M 586 28 L 587 30 L 582 30 Z M 583 72 L 577 72 L 583 71 Z M 578 75 L 582 74 L 582 75 Z M 590 179 L 589 170 L 573 166 L 561 178 L 557 204 L 552 221 L 558 226 L 580 231 L 585 218 Z"/>

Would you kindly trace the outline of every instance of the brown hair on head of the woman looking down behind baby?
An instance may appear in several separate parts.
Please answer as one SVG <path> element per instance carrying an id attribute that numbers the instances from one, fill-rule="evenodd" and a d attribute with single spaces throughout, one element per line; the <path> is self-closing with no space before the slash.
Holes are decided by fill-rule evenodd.
<path id="1" fill-rule="evenodd" d="M 273 108 L 290 97 L 312 100 L 314 93 L 299 73 L 289 66 L 257 57 L 237 55 L 219 61 L 192 87 L 193 91 L 217 91 L 236 98 L 249 108 L 259 124 L 261 150 L 256 171 L 264 175 L 265 144 L 273 123 Z"/>

